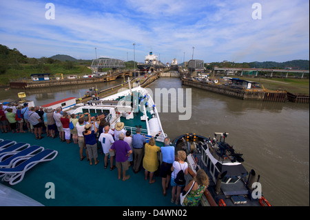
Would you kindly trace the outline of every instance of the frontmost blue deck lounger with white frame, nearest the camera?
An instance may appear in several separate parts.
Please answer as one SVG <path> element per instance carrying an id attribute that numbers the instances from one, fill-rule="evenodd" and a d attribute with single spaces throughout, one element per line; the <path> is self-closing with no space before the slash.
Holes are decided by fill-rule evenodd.
<path id="1" fill-rule="evenodd" d="M 57 154 L 58 152 L 56 150 L 45 149 L 28 159 L 18 159 L 13 163 L 12 168 L 0 168 L 0 173 L 5 174 L 2 181 L 8 181 L 10 185 L 15 185 L 23 180 L 25 172 L 30 170 L 30 168 L 36 166 L 38 163 L 51 161 Z"/>

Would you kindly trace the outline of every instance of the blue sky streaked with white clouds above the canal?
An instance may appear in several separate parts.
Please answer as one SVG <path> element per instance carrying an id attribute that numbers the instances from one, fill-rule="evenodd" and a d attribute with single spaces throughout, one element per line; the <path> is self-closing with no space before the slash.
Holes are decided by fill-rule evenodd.
<path id="1" fill-rule="evenodd" d="M 136 61 L 152 51 L 182 63 L 193 47 L 205 62 L 309 59 L 309 1 L 0 0 L 0 44 L 28 57 L 127 61 L 133 43 Z"/>

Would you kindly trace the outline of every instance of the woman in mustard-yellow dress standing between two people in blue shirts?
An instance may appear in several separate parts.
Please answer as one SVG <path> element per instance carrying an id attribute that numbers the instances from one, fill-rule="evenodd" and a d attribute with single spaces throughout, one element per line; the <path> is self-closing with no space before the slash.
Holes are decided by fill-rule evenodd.
<path id="1" fill-rule="evenodd" d="M 149 139 L 149 143 L 145 143 L 145 154 L 143 158 L 143 168 L 145 169 L 145 180 L 149 174 L 149 184 L 155 182 L 153 179 L 154 172 L 158 169 L 158 157 L 157 152 L 161 151 L 161 148 L 155 145 L 153 138 Z"/>

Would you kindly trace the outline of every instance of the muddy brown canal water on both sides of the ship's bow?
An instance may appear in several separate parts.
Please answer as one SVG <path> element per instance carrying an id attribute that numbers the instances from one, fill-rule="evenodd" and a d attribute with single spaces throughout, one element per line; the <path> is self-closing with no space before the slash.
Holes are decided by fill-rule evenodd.
<path id="1" fill-rule="evenodd" d="M 123 80 L 117 79 L 92 86 L 103 90 L 121 83 Z M 82 97 L 88 88 L 90 85 L 1 90 L 0 99 L 16 99 L 17 92 L 26 92 L 27 99 L 40 106 L 67 97 L 79 98 L 79 94 Z M 191 110 L 188 120 L 179 119 L 185 114 L 179 108 L 176 112 L 170 110 L 171 106 L 177 106 L 174 95 L 162 95 L 161 103 L 156 103 L 161 105 L 161 123 L 170 139 L 188 132 L 206 137 L 213 137 L 214 132 L 227 132 L 226 141 L 243 154 L 245 168 L 260 174 L 262 194 L 273 206 L 309 206 L 308 104 L 244 101 L 198 88 L 191 88 L 192 95 L 186 97 L 185 89 L 189 87 L 182 86 L 180 79 L 169 77 L 162 77 L 147 88 L 153 91 L 153 97 L 163 88 L 169 92 L 184 90 L 183 106 L 187 114 Z M 186 105 L 187 99 L 192 100 L 192 106 Z"/>

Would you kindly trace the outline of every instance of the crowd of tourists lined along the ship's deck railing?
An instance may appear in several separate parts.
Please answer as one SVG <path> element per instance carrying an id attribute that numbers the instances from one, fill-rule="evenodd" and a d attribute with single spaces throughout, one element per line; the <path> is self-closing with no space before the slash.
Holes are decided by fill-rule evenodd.
<path id="1" fill-rule="evenodd" d="M 80 160 L 87 159 L 90 165 L 99 163 L 98 152 L 104 154 L 104 168 L 117 168 L 118 179 L 130 179 L 127 170 L 132 166 L 134 173 L 144 170 L 145 180 L 149 184 L 155 183 L 154 173 L 159 170 L 163 196 L 167 189 L 172 187 L 172 203 L 181 203 L 183 206 L 198 206 L 200 198 L 209 185 L 207 174 L 198 170 L 196 176 L 187 185 L 185 175 L 188 174 L 186 153 L 179 150 L 175 153 L 170 139 L 165 138 L 165 146 L 158 147 L 153 138 L 146 140 L 141 134 L 141 128 L 136 128 L 135 134 L 124 129 L 124 123 L 118 122 L 114 130 L 104 117 L 91 117 L 90 113 L 68 114 L 62 108 L 40 108 L 0 103 L 1 132 L 32 132 L 35 139 L 43 139 L 43 134 L 52 139 L 59 137 L 60 141 L 79 145 Z M 84 154 L 85 152 L 85 154 Z M 158 161 L 158 152 L 161 152 L 163 161 Z M 115 165 L 114 165 L 115 161 Z M 109 166 L 110 162 L 110 166 Z M 181 192 L 185 190 L 187 192 Z M 181 201 L 180 201 L 181 199 Z"/>

